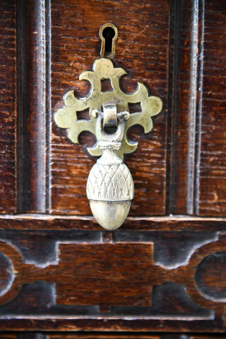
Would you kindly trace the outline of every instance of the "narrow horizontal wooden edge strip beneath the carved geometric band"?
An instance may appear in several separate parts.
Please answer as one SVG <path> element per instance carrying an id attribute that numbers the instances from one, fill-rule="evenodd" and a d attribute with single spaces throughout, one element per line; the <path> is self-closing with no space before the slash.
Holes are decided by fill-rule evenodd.
<path id="1" fill-rule="evenodd" d="M 1 319 L 0 330 L 9 331 L 134 331 L 134 332 L 208 332 L 223 333 L 225 326 L 222 320 L 124 320 L 124 319 Z"/>

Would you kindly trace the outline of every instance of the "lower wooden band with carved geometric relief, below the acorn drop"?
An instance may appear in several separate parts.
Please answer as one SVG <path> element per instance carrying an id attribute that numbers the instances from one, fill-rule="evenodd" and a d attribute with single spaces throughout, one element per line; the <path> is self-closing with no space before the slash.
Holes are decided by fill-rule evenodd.
<path id="1" fill-rule="evenodd" d="M 163 217 L 164 231 L 146 220 L 143 231 L 129 231 L 130 221 L 109 232 L 51 217 L 30 219 L 27 231 L 25 218 L 0 230 L 2 329 L 48 330 L 54 321 L 56 330 L 224 331 L 225 221 L 176 231 L 184 221 Z M 57 230 L 68 221 L 70 230 Z"/>

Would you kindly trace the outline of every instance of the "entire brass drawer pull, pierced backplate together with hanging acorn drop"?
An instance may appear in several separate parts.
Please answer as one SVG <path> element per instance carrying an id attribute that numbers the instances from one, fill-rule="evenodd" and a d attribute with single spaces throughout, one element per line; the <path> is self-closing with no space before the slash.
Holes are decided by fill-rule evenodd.
<path id="1" fill-rule="evenodd" d="M 94 217 L 107 230 L 121 226 L 134 194 L 132 177 L 123 163 L 123 155 L 134 152 L 138 143 L 128 140 L 127 130 L 139 124 L 144 133 L 150 132 L 153 127 L 151 117 L 162 109 L 162 100 L 148 96 L 147 88 L 141 82 L 135 92 L 124 93 L 119 80 L 125 74 L 124 69 L 114 67 L 110 59 L 95 60 L 93 71 L 79 76 L 80 80 L 88 80 L 91 84 L 88 96 L 76 98 L 74 91 L 67 92 L 65 107 L 58 109 L 54 116 L 56 124 L 67 129 L 67 136 L 74 143 L 78 143 L 78 136 L 83 131 L 97 137 L 97 143 L 87 151 L 91 156 L 101 158 L 90 171 L 86 192 Z M 108 79 L 111 84 L 111 89 L 105 92 L 101 91 L 103 79 Z M 129 103 L 140 103 L 141 112 L 129 114 Z M 90 120 L 78 120 L 77 112 L 87 108 Z M 111 126 L 115 131 L 107 133 L 107 127 Z"/>

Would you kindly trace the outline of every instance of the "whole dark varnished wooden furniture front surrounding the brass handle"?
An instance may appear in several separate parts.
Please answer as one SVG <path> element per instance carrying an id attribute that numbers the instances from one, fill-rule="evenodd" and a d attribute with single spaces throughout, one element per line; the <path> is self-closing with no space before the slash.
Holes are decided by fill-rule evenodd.
<path id="1" fill-rule="evenodd" d="M 224 6 L 21 0 L 15 22 L 14 1 L 0 4 L 0 206 L 7 213 L 0 217 L 0 329 L 134 331 L 0 338 L 210 339 L 189 333 L 225 332 Z M 114 63 L 128 72 L 122 89 L 144 82 L 164 104 L 149 135 L 129 131 L 139 141 L 126 157 L 135 199 L 114 232 L 90 216 L 85 196 L 95 159 L 84 145 L 94 139 L 83 133 L 74 145 L 52 122 L 66 91 L 88 92 L 78 76 L 99 57 L 98 30 L 107 21 L 119 29 Z M 143 331 L 163 333 L 135 333 Z"/>

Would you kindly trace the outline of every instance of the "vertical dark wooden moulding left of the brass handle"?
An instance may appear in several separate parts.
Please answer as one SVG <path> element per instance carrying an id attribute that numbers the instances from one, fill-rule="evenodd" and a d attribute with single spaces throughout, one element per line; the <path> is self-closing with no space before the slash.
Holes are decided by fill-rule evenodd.
<path id="1" fill-rule="evenodd" d="M 48 54 L 44 1 L 18 1 L 18 211 L 46 212 Z M 48 196 L 48 190 L 47 190 Z"/>

